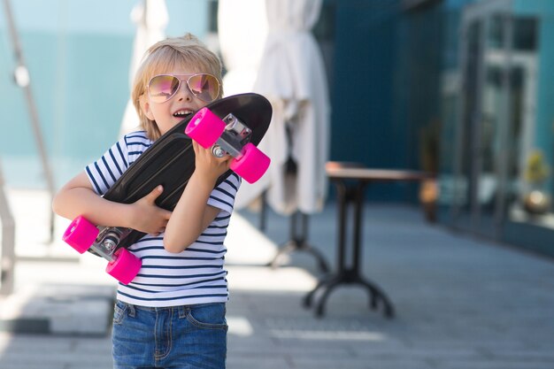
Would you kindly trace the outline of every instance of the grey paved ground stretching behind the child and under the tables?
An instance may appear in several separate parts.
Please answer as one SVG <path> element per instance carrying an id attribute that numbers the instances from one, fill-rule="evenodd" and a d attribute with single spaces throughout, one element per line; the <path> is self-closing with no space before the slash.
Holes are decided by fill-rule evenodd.
<path id="1" fill-rule="evenodd" d="M 39 304 L 36 293 L 29 291 L 42 286 L 62 288 L 66 295 L 58 300 L 68 306 L 86 304 L 87 298 L 105 300 L 105 288 L 115 284 L 102 271 L 101 259 L 84 255 L 75 260 L 73 251 L 68 253 L 59 242 L 42 244 L 47 223 L 37 204 L 47 199 L 25 191 L 10 196 L 19 225 L 18 254 L 27 258 L 19 261 L 16 292 L 1 301 L 0 311 L 13 306 L 6 301 L 15 297 L 27 296 L 27 306 Z M 31 210 L 28 201 L 34 204 Z M 554 367 L 551 259 L 429 226 L 418 209 L 368 205 L 364 274 L 389 294 L 396 318 L 384 319 L 381 311 L 368 309 L 365 290 L 342 287 L 331 294 L 326 316 L 318 319 L 301 304 L 319 277 L 311 256 L 299 252 L 281 268 L 264 266 L 277 243 L 288 241 L 289 220 L 270 213 L 266 237 L 252 226 L 257 215 L 239 215 L 227 242 L 230 369 Z M 313 216 L 310 225 L 309 241 L 333 265 L 332 206 Z M 58 224 L 57 232 L 62 227 Z M 48 255 L 69 261 L 48 261 Z M 91 290 L 96 293 L 79 296 Z M 50 296 L 52 300 L 56 296 Z M 103 305 L 97 310 L 107 314 L 110 309 Z M 87 323 L 79 312 L 68 312 L 67 317 Z M 104 328 L 105 334 L 0 333 L 0 368 L 110 368 L 109 327 Z"/>

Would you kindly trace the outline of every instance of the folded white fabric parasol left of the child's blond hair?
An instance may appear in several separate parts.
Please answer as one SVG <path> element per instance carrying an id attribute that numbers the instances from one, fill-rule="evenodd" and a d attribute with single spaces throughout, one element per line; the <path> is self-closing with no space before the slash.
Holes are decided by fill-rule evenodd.
<path id="1" fill-rule="evenodd" d="M 144 52 L 154 43 L 165 38 L 165 27 L 169 21 L 165 0 L 142 0 L 135 4 L 131 19 L 136 25 L 133 56 L 129 66 L 129 87 L 132 88 L 136 70 L 141 65 Z M 125 135 L 139 126 L 135 105 L 129 99 L 121 121 L 119 135 Z"/>

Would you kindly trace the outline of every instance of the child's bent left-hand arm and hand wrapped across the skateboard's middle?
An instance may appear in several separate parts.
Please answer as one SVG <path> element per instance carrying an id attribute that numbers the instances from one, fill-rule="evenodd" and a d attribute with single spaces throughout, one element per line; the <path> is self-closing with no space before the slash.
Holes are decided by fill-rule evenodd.
<path id="1" fill-rule="evenodd" d="M 52 209 L 67 219 L 82 215 L 96 225 L 129 227 L 148 234 L 158 234 L 171 216 L 171 211 L 154 204 L 162 191 L 163 188 L 159 186 L 134 204 L 119 204 L 96 195 L 87 174 L 82 172 L 58 191 Z"/>

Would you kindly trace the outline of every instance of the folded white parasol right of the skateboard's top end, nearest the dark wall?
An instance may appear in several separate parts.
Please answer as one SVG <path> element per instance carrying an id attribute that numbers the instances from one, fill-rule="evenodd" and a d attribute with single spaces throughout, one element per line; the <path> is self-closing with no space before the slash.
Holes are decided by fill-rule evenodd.
<path id="1" fill-rule="evenodd" d="M 323 58 L 311 33 L 320 9 L 320 0 L 265 1 L 268 34 L 253 89 L 273 105 L 271 126 L 260 143 L 272 165 L 262 180 L 242 185 L 239 204 L 267 189 L 268 204 L 285 215 L 323 207 L 330 103 Z M 287 172 L 289 158 L 296 173 Z"/>

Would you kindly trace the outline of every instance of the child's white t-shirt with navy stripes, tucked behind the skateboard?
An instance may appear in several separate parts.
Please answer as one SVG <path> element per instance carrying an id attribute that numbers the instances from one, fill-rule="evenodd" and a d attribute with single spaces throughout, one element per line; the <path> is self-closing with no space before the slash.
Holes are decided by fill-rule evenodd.
<path id="1" fill-rule="evenodd" d="M 98 195 L 119 179 L 153 142 L 143 131 L 125 135 L 104 156 L 87 165 L 88 179 Z M 164 234 L 146 234 L 128 250 L 141 258 L 142 268 L 127 286 L 119 283 L 118 299 L 142 306 L 177 306 L 227 302 L 224 245 L 235 194 L 241 179 L 232 173 L 212 191 L 208 204 L 221 209 L 196 242 L 179 254 L 164 249 Z"/>

